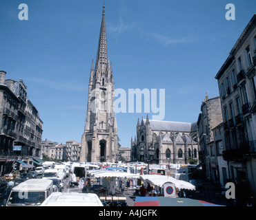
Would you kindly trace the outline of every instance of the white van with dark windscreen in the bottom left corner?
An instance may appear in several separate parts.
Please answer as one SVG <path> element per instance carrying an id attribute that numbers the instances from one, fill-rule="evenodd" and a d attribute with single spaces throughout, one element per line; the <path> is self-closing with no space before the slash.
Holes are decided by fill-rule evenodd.
<path id="1" fill-rule="evenodd" d="M 40 206 L 52 191 L 52 180 L 28 179 L 12 188 L 6 206 Z"/>

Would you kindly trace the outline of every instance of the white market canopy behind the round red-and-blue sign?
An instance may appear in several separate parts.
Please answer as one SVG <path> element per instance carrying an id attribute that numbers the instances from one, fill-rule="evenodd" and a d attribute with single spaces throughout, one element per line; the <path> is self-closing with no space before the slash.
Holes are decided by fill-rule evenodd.
<path id="1" fill-rule="evenodd" d="M 195 186 L 193 186 L 189 182 L 175 179 L 173 177 L 169 177 L 166 175 L 141 175 L 140 179 L 154 186 L 162 187 L 166 182 L 171 182 L 175 184 L 175 187 L 179 188 L 179 190 L 180 189 L 195 190 Z"/>

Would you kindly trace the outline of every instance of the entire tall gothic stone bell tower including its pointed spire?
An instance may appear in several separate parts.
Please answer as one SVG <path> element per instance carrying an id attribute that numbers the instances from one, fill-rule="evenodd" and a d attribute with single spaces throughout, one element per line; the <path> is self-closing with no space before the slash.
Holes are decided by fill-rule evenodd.
<path id="1" fill-rule="evenodd" d="M 86 126 L 81 138 L 80 162 L 115 162 L 117 121 L 114 113 L 115 84 L 108 60 L 105 5 L 95 68 L 90 69 Z"/>

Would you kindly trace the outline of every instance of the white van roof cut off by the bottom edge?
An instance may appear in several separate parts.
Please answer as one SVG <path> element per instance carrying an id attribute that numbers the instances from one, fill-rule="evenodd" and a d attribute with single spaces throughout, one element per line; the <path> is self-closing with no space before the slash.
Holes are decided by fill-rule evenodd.
<path id="1" fill-rule="evenodd" d="M 103 206 L 95 193 L 52 192 L 41 206 Z"/>

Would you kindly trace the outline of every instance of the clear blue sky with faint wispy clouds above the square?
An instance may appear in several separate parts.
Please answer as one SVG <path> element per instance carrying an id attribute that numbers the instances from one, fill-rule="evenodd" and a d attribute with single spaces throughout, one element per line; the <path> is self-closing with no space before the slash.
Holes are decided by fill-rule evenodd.
<path id="1" fill-rule="evenodd" d="M 18 18 L 28 5 L 28 21 Z M 227 21 L 226 4 L 235 5 Z M 196 122 L 201 101 L 219 96 L 215 75 L 255 14 L 256 1 L 106 0 L 108 57 L 115 88 L 165 89 L 165 118 Z M 81 142 L 103 1 L 1 0 L 0 69 L 22 79 L 43 120 L 43 140 Z M 121 146 L 137 119 L 117 113 Z M 149 113 L 152 118 L 152 112 Z"/>

